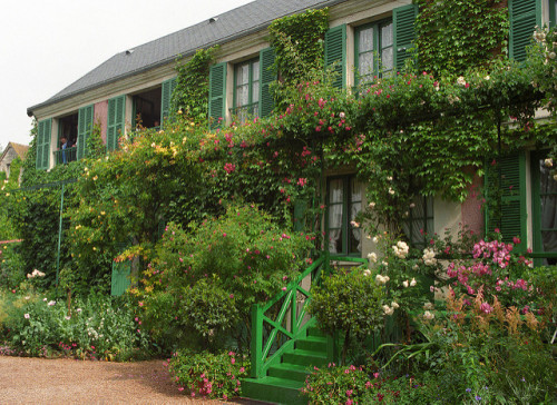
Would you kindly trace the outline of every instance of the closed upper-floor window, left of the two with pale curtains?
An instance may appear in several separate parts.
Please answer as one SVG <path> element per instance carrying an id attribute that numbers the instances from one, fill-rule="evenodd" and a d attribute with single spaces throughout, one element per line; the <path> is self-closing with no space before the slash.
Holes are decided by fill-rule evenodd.
<path id="1" fill-rule="evenodd" d="M 260 59 L 252 59 L 234 67 L 234 110 L 240 122 L 257 116 L 260 107 Z"/>

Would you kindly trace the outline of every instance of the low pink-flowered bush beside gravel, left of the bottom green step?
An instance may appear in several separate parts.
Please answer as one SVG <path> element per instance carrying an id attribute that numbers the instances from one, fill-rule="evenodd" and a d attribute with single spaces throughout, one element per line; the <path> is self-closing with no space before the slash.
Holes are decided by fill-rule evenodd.
<path id="1" fill-rule="evenodd" d="M 193 397 L 229 399 L 242 395 L 241 378 L 248 375 L 247 357 L 234 352 L 212 354 L 179 350 L 168 363 L 179 391 Z"/>

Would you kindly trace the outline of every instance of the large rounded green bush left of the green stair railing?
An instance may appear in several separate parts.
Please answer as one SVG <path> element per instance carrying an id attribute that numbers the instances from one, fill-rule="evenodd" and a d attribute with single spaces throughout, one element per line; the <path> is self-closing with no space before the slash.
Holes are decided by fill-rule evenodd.
<path id="1" fill-rule="evenodd" d="M 176 325 L 204 348 L 229 344 L 224 338 L 231 334 L 245 347 L 251 305 L 292 280 L 310 248 L 310 237 L 281 229 L 254 206 L 232 206 L 188 233 L 169 224 L 140 280 L 145 290 L 133 293 L 155 334 Z M 158 314 L 159 299 L 173 308 L 172 316 Z"/>

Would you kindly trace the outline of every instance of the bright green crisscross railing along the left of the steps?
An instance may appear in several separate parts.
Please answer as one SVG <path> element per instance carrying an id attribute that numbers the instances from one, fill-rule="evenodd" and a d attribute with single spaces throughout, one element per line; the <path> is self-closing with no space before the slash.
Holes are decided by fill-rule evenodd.
<path id="1" fill-rule="evenodd" d="M 331 271 L 333 260 L 368 263 L 359 257 L 331 256 L 328 251 L 322 253 L 320 258 L 290 283 L 285 290 L 265 304 L 252 305 L 252 378 L 264 377 L 268 367 L 280 363 L 282 355 L 293 348 L 296 339 L 305 336 L 306 329 L 313 325 L 307 314 L 312 290 L 321 285 L 323 276 Z M 304 288 L 305 285 L 309 286 Z M 276 310 L 275 305 L 283 298 L 280 309 Z"/>

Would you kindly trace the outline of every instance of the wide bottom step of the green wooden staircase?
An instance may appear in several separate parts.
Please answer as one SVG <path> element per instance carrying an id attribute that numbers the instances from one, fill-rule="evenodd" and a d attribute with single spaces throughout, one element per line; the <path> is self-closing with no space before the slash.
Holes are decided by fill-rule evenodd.
<path id="1" fill-rule="evenodd" d="M 302 405 L 307 403 L 300 394 L 303 385 L 303 382 L 272 376 L 245 378 L 242 381 L 242 396 L 273 404 Z"/>

